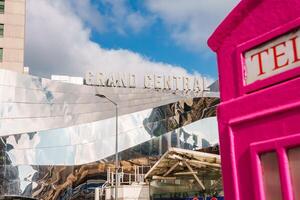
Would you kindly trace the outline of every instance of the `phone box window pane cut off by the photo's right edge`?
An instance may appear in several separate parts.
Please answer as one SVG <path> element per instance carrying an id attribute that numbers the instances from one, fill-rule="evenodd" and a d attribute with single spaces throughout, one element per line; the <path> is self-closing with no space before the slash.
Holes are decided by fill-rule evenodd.
<path id="1" fill-rule="evenodd" d="M 300 199 L 300 147 L 288 150 L 295 199 Z"/>

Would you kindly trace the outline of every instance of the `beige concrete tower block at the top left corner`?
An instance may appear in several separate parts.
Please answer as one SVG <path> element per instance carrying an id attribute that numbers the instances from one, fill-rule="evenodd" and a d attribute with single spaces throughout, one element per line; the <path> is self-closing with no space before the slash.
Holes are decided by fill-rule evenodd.
<path id="1" fill-rule="evenodd" d="M 25 0 L 0 0 L 0 68 L 24 72 Z"/>

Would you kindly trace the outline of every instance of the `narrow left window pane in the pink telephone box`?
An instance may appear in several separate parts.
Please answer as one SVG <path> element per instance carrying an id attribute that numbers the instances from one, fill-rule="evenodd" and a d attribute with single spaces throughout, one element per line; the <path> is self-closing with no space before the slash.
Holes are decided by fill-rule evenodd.
<path id="1" fill-rule="evenodd" d="M 282 200 L 276 152 L 260 155 L 266 200 Z"/>

